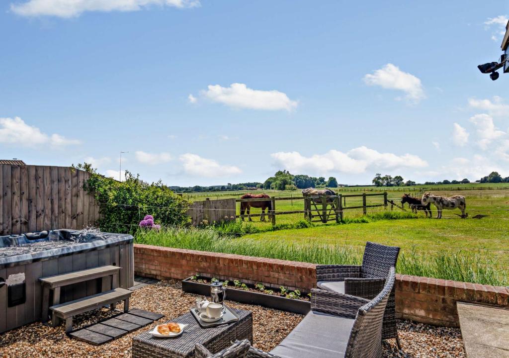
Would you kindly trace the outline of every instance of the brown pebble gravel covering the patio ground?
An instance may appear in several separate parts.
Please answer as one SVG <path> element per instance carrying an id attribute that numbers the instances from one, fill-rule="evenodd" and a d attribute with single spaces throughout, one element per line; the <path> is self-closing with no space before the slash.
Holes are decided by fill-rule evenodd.
<path id="1" fill-rule="evenodd" d="M 196 295 L 184 294 L 179 281 L 161 281 L 140 288 L 131 296 L 131 307 L 158 312 L 165 317 L 153 324 L 132 332 L 120 339 L 93 346 L 70 339 L 63 325 L 51 328 L 41 323 L 32 323 L 0 335 L 0 356 L 3 358 L 25 357 L 130 357 L 133 336 L 152 329 L 156 324 L 176 318 L 189 311 Z M 253 313 L 253 345 L 265 351 L 271 350 L 300 322 L 302 316 L 288 312 L 264 309 L 259 306 L 237 304 L 229 301 L 233 308 L 250 310 Z M 119 309 L 122 306 L 119 305 Z M 108 310 L 93 311 L 75 318 L 74 327 L 95 323 L 110 315 Z M 403 351 L 395 348 L 395 342 L 384 346 L 384 357 L 409 358 L 463 358 L 463 341 L 459 329 L 433 327 L 408 321 L 398 323 Z"/>

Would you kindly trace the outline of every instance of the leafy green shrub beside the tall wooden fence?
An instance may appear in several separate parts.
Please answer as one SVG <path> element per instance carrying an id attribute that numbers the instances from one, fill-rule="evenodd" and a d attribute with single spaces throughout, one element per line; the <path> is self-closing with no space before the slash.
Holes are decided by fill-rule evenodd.
<path id="1" fill-rule="evenodd" d="M 103 231 L 134 233 L 140 230 L 138 224 L 147 214 L 164 226 L 185 225 L 190 221 L 189 203 L 161 181 L 149 184 L 126 171 L 126 180 L 119 182 L 99 175 L 90 164 L 78 164 L 77 168 L 91 174 L 83 186 L 99 203 L 98 224 Z"/>

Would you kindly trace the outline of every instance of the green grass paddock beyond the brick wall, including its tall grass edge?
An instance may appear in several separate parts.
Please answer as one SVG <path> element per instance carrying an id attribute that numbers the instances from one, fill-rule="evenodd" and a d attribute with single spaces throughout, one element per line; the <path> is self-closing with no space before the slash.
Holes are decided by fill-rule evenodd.
<path id="1" fill-rule="evenodd" d="M 327 224 L 303 221 L 303 214 L 277 215 L 276 230 L 270 223 L 234 223 L 215 229 L 169 231 L 137 235 L 138 242 L 188 249 L 236 253 L 315 263 L 358 263 L 366 241 L 402 248 L 398 272 L 449 280 L 509 285 L 509 188 L 507 184 L 463 184 L 434 186 L 437 195 L 465 196 L 469 218 L 444 211 L 443 219 L 425 218 L 394 208 L 372 208 L 367 216 L 362 209 L 346 211 L 345 223 Z M 490 188 L 489 188 L 490 187 Z M 482 188 L 482 189 L 480 189 Z M 402 188 L 374 188 L 388 192 L 388 199 L 401 201 Z M 420 189 L 422 190 L 422 189 Z M 338 191 L 338 190 L 336 190 Z M 355 194 L 340 191 L 344 194 Z M 362 191 L 361 191 L 362 192 Z M 411 192 L 411 191 L 410 191 Z M 224 197 L 232 196 L 231 192 Z M 302 210 L 299 192 L 273 192 L 271 196 L 295 196 L 294 200 L 277 201 L 276 211 Z M 239 197 L 240 193 L 232 196 Z M 224 198 L 222 197 L 222 198 Z M 214 199 L 211 197 L 211 199 Z M 371 197 L 367 204 L 381 203 L 383 197 Z M 361 198 L 348 198 L 347 206 L 361 204 Z M 432 205 L 433 215 L 436 208 Z M 239 209 L 237 207 L 237 213 Z M 251 213 L 259 213 L 252 209 Z M 476 214 L 489 215 L 473 219 Z M 387 219 L 389 218 L 389 219 Z M 298 227 L 288 229 L 287 227 Z M 173 229 L 172 229 L 173 230 Z M 228 232 L 228 233 L 224 233 Z M 251 232 L 251 234 L 250 234 Z M 239 233 L 240 235 L 232 235 Z"/>

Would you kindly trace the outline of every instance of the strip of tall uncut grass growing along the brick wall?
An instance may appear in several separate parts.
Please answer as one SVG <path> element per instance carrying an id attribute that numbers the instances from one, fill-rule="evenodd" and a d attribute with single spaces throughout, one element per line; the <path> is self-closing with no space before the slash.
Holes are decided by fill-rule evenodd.
<path id="1" fill-rule="evenodd" d="M 287 241 L 260 241 L 218 233 L 214 229 L 166 228 L 160 231 L 136 233 L 137 243 L 176 247 L 199 251 L 267 257 L 281 260 L 318 264 L 359 264 L 362 246 L 323 244 L 315 241 L 288 243 Z M 439 253 L 416 252 L 402 249 L 398 261 L 399 273 L 506 286 L 507 272 L 497 270 L 499 264 L 480 252 L 448 251 Z"/>

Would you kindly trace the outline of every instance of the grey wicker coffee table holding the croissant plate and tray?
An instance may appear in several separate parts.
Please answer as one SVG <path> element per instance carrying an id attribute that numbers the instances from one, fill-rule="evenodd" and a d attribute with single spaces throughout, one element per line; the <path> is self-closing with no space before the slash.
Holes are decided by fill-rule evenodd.
<path id="1" fill-rule="evenodd" d="M 132 339 L 133 358 L 182 358 L 194 357 L 196 343 L 203 344 L 212 353 L 229 347 L 233 341 L 248 339 L 252 342 L 251 311 L 235 310 L 239 320 L 218 327 L 202 328 L 191 313 L 186 313 L 172 322 L 188 324 L 184 333 L 175 338 L 153 338 L 148 332 Z"/>

